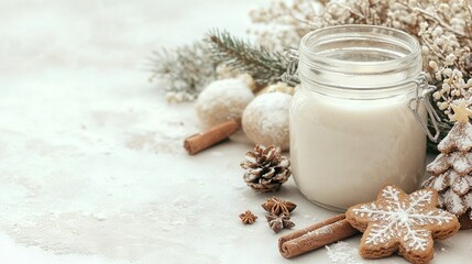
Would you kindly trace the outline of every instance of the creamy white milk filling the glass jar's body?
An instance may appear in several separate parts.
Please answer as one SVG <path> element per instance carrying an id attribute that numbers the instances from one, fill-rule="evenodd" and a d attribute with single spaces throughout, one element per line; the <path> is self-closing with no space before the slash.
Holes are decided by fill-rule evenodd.
<path id="1" fill-rule="evenodd" d="M 385 184 L 420 184 L 426 136 L 409 111 L 411 95 L 338 99 L 299 89 L 290 107 L 290 158 L 298 189 L 311 201 L 347 209 L 374 200 Z M 426 119 L 426 111 L 421 114 Z"/>

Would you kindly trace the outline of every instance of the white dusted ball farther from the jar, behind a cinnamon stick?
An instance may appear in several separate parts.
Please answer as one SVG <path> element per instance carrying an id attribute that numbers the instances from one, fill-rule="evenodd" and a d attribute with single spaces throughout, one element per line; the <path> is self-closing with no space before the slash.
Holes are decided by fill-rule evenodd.
<path id="1" fill-rule="evenodd" d="M 230 119 L 240 119 L 253 99 L 251 88 L 241 79 L 215 80 L 200 92 L 195 109 L 201 122 L 212 127 Z"/>

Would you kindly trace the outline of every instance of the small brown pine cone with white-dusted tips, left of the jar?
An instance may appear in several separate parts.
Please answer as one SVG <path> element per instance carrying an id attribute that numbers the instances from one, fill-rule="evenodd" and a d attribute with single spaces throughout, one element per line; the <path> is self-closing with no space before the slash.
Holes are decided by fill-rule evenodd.
<path id="1" fill-rule="evenodd" d="M 290 162 L 281 155 L 281 148 L 273 145 L 255 145 L 241 163 L 241 167 L 248 169 L 244 182 L 252 189 L 263 193 L 278 190 L 292 175 L 289 166 Z"/>

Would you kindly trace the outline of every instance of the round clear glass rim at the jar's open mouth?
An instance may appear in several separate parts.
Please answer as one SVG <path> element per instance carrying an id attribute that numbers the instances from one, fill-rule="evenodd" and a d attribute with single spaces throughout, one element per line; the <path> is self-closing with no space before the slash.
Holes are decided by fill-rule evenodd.
<path id="1" fill-rule="evenodd" d="M 345 30 L 350 33 L 362 32 L 362 31 L 367 32 L 367 30 L 369 31 L 378 30 L 378 31 L 383 31 L 383 32 L 389 32 L 389 33 L 392 33 L 392 36 L 403 38 L 403 40 L 407 41 L 409 44 L 411 44 L 411 46 L 410 46 L 411 52 L 406 54 L 405 56 L 399 56 L 399 57 L 388 59 L 388 61 L 354 62 L 354 61 L 344 61 L 344 59 L 339 59 L 339 58 L 326 57 L 326 56 L 319 55 L 318 53 L 308 48 L 308 42 L 311 41 L 312 38 L 316 38 L 317 36 L 325 35 L 327 33 L 332 34 L 332 32 L 341 32 L 343 30 Z M 345 31 L 342 33 L 345 33 Z M 316 41 L 315 41 L 315 44 L 316 44 Z M 310 58 L 322 59 L 326 63 L 332 63 L 332 64 L 337 64 L 337 65 L 338 64 L 349 64 L 352 66 L 386 66 L 386 65 L 398 64 L 398 63 L 403 63 L 403 62 L 410 62 L 416 56 L 418 56 L 418 54 L 420 53 L 419 42 L 414 36 L 411 36 L 410 34 L 408 34 L 404 31 L 400 31 L 400 30 L 392 29 L 392 28 L 385 28 L 385 26 L 380 26 L 380 25 L 363 25 L 363 24 L 333 25 L 333 26 L 327 26 L 323 29 L 311 31 L 311 32 L 307 33 L 301 38 L 299 48 L 303 53 L 309 55 Z"/>

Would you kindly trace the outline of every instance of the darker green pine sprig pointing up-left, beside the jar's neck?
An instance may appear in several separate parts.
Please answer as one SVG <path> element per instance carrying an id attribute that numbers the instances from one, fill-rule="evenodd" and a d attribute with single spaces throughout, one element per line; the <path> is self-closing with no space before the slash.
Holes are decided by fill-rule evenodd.
<path id="1" fill-rule="evenodd" d="M 277 82 L 288 67 L 281 53 L 235 38 L 227 31 L 209 32 L 208 43 L 216 63 L 251 75 L 257 86 Z"/>

